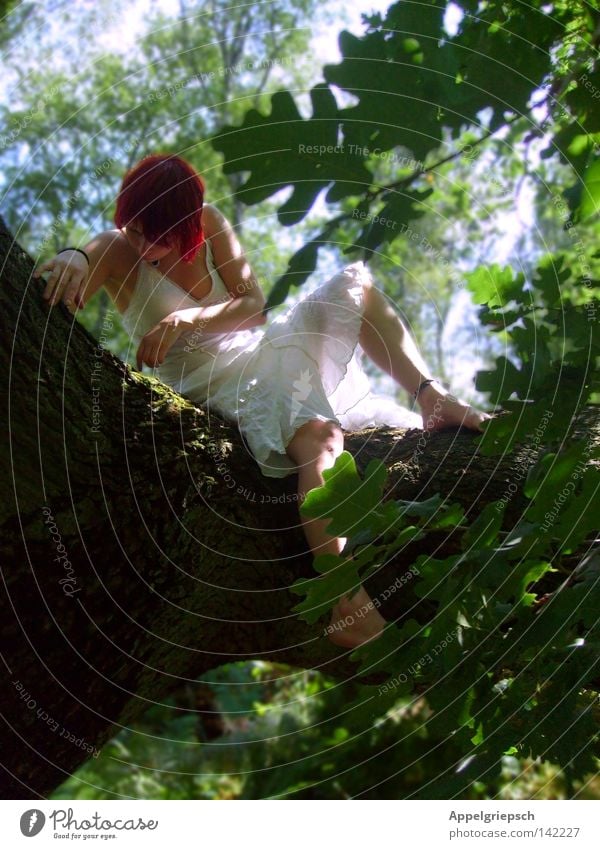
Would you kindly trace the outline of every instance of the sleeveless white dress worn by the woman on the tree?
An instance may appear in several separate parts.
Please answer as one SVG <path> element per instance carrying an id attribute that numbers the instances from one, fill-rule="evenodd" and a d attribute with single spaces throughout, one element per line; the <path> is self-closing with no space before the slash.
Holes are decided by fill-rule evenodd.
<path id="1" fill-rule="evenodd" d="M 206 240 L 210 292 L 194 298 L 146 262 L 139 265 L 123 323 L 132 344 L 175 310 L 230 300 Z M 370 391 L 358 346 L 363 310 L 362 262 L 347 265 L 268 326 L 236 333 L 188 331 L 154 374 L 181 395 L 238 425 L 267 477 L 296 471 L 285 453 L 311 419 L 344 430 L 422 427 L 419 415 Z"/>

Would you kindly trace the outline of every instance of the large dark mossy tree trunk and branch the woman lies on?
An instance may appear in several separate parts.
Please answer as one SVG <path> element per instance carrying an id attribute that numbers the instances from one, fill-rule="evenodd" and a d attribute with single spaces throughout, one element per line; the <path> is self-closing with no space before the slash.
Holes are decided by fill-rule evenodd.
<path id="1" fill-rule="evenodd" d="M 0 258 L 2 797 L 47 796 L 150 704 L 223 663 L 351 672 L 323 622 L 290 613 L 311 558 L 293 497 L 273 499 L 295 478 L 264 478 L 234 427 L 209 427 L 64 307 L 49 310 L 1 221 Z M 360 468 L 386 462 L 394 498 L 441 492 L 471 511 L 505 490 L 514 455 L 477 457 L 469 432 L 415 451 L 420 438 L 369 431 L 347 447 Z"/>

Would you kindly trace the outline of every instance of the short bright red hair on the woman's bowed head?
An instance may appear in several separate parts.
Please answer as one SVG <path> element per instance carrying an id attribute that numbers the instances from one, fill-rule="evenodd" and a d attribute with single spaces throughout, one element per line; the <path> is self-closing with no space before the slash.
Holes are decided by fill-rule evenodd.
<path id="1" fill-rule="evenodd" d="M 138 221 L 148 241 L 176 246 L 192 262 L 204 242 L 203 205 L 204 181 L 196 169 L 180 156 L 154 154 L 125 175 L 115 224 L 121 230 Z"/>

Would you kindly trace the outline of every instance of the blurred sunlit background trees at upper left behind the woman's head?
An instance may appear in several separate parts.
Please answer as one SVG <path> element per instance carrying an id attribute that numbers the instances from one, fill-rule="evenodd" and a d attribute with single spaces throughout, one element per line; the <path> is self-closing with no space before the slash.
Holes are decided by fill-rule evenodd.
<path id="1" fill-rule="evenodd" d="M 0 103 L 6 127 L 0 133 L 0 183 L 9 189 L 3 215 L 41 262 L 65 244 L 84 245 L 114 226 L 120 181 L 137 159 L 157 150 L 177 152 L 204 175 L 207 200 L 237 228 L 268 289 L 285 264 L 284 250 L 260 217 L 244 228 L 237 181 L 223 176 L 206 139 L 219 122 L 236 120 L 251 103 L 264 104 L 274 82 L 305 85 L 310 30 L 299 24 L 326 17 L 327 6 L 277 0 L 232 8 L 215 0 L 198 14 L 181 3 L 174 18 L 149 16 L 135 50 L 107 51 L 102 36 L 130 5 L 103 0 L 85 14 L 65 10 L 58 44 L 46 41 L 48 27 L 42 26 L 41 38 L 26 31 L 23 43 L 12 45 L 17 84 L 10 100 Z M 78 26 L 83 32 L 70 33 Z M 70 56 L 76 61 L 69 62 Z M 268 207 L 262 210 L 267 219 Z M 109 309 L 101 292 L 78 320 L 95 336 L 110 321 L 103 344 L 133 363 L 135 351 L 118 311 L 111 315 Z"/>

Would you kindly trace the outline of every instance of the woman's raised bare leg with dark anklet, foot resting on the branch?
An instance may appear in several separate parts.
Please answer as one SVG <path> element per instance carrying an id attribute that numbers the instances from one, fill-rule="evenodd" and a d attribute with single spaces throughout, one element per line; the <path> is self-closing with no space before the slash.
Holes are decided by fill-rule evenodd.
<path id="1" fill-rule="evenodd" d="M 364 287 L 364 319 L 359 336 L 368 357 L 410 393 L 431 377 L 400 316 L 375 286 Z M 425 430 L 452 425 L 479 430 L 490 417 L 450 395 L 439 383 L 421 390 L 418 403 Z"/>

